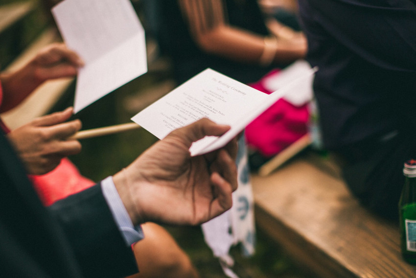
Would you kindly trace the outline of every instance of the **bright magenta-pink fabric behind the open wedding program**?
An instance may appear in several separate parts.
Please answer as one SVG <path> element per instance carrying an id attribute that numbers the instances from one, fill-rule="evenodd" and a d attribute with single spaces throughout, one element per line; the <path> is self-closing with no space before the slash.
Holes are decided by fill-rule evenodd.
<path id="1" fill-rule="evenodd" d="M 272 71 L 260 81 L 249 85 L 263 93 L 271 94 L 272 92 L 268 91 L 262 82 L 264 78 L 277 73 L 278 70 Z M 307 106 L 304 104 L 298 107 L 284 99 L 276 101 L 246 127 L 245 136 L 248 146 L 266 157 L 284 150 L 308 131 Z"/>

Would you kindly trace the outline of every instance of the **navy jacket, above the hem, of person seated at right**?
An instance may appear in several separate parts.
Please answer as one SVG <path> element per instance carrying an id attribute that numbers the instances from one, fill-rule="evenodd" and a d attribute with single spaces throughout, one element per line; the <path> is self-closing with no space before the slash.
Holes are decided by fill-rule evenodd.
<path id="1" fill-rule="evenodd" d="M 307 60 L 330 150 L 416 129 L 416 6 L 300 0 Z"/>

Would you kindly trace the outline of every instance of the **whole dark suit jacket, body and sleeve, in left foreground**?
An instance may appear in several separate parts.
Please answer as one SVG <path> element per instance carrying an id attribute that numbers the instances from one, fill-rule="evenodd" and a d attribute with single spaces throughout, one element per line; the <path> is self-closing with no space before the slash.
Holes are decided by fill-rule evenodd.
<path id="1" fill-rule="evenodd" d="M 50 207 L 0 131 L 0 277 L 123 277 L 137 273 L 99 184 Z"/>

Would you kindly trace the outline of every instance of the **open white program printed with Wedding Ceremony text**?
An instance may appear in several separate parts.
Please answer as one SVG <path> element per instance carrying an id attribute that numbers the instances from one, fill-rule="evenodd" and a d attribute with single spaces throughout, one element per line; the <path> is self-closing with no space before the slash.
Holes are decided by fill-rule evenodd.
<path id="1" fill-rule="evenodd" d="M 132 120 L 159 139 L 176 128 L 204 117 L 231 126 L 220 137 L 207 136 L 192 144 L 189 150 L 192 155 L 204 154 L 225 146 L 264 110 L 302 82 L 301 79 L 312 74 L 311 70 L 300 79 L 267 95 L 206 69 L 143 109 Z"/>

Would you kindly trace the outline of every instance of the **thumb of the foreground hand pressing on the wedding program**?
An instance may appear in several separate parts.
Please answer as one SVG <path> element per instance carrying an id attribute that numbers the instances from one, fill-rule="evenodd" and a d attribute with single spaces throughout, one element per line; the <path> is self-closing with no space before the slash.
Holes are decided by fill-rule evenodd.
<path id="1" fill-rule="evenodd" d="M 208 118 L 202 118 L 188 126 L 184 126 L 170 132 L 166 137 L 176 137 L 187 148 L 190 148 L 193 142 L 204 138 L 205 136 L 221 136 L 230 129 L 230 126 L 219 125 Z"/>

